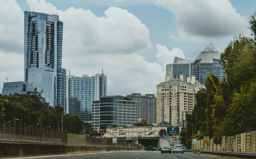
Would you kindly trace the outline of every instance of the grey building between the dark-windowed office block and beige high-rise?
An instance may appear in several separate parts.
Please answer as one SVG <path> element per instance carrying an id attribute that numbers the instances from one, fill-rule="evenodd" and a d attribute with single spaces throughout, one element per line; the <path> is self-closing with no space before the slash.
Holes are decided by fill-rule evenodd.
<path id="1" fill-rule="evenodd" d="M 150 123 L 156 124 L 156 97 L 154 94 L 131 94 L 127 98 L 138 102 L 138 118 L 144 119 Z"/>

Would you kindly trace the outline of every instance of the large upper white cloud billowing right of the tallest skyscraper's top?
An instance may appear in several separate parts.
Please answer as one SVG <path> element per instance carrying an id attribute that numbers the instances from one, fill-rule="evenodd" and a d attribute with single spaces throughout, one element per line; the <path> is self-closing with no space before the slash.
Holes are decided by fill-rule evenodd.
<path id="1" fill-rule="evenodd" d="M 63 53 L 130 54 L 152 47 L 146 26 L 125 9 L 110 7 L 104 17 L 97 17 L 81 8 L 57 10 L 45 0 L 27 2 L 32 11 L 59 13 L 64 25 Z"/>

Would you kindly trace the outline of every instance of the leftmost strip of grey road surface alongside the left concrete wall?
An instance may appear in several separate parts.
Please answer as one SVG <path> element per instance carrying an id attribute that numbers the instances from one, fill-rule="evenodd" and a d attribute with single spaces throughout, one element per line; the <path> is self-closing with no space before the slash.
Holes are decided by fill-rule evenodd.
<path id="1" fill-rule="evenodd" d="M 146 155 L 152 152 L 146 151 L 124 151 L 124 152 L 104 152 L 104 153 L 91 153 L 91 154 L 74 154 L 74 155 L 61 155 L 51 157 L 36 157 L 36 158 L 47 158 L 47 159 L 92 159 L 92 158 L 106 158 L 106 159 L 126 159 L 126 158 L 144 158 Z"/>

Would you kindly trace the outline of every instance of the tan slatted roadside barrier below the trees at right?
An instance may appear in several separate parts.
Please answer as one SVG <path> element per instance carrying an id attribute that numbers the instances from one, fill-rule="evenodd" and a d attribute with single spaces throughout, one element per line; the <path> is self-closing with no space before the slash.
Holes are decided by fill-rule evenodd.
<path id="1" fill-rule="evenodd" d="M 229 151 L 229 152 L 256 152 L 256 131 L 244 132 L 233 136 L 222 136 L 220 143 L 215 143 L 213 139 L 208 144 L 203 140 L 193 144 L 193 150 L 204 151 Z"/>

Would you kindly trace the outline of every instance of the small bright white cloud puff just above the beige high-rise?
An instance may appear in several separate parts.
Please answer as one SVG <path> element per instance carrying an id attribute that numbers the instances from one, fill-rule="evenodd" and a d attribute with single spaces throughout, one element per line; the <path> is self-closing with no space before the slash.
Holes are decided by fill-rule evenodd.
<path id="1" fill-rule="evenodd" d="M 156 45 L 158 62 L 162 63 L 163 68 L 165 69 L 165 65 L 174 62 L 174 57 L 180 57 L 185 59 L 185 55 L 183 51 L 179 48 L 173 48 L 172 51 L 169 51 L 166 46 L 161 46 L 161 44 Z"/>

